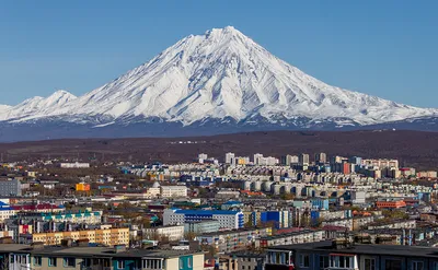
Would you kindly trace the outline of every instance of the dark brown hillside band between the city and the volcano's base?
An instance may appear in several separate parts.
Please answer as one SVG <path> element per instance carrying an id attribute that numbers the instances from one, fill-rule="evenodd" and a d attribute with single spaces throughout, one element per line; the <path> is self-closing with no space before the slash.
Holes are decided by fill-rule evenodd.
<path id="1" fill-rule="evenodd" d="M 197 143 L 180 143 L 196 141 Z M 97 161 L 189 162 L 200 152 L 223 160 L 263 153 L 280 156 L 301 152 L 313 155 L 358 155 L 399 159 L 404 166 L 436 168 L 438 133 L 422 131 L 269 131 L 192 138 L 66 139 L 0 144 L 4 161 L 65 157 Z"/>

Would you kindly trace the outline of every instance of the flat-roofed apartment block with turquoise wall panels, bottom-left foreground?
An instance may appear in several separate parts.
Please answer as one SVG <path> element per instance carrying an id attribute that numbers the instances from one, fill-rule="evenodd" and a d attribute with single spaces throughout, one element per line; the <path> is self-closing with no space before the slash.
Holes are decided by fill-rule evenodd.
<path id="1" fill-rule="evenodd" d="M 9 270 L 204 270 L 204 254 L 189 250 L 2 245 L 0 263 Z"/>

